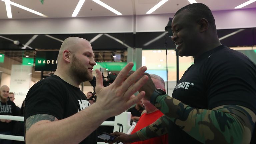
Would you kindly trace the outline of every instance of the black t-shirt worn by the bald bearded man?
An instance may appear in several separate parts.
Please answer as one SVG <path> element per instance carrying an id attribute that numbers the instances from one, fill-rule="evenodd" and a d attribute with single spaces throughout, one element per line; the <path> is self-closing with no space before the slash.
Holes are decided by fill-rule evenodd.
<path id="1" fill-rule="evenodd" d="M 25 99 L 24 122 L 28 117 L 36 114 L 49 114 L 61 120 L 88 106 L 90 103 L 79 88 L 52 75 L 37 82 L 28 91 Z M 81 127 L 81 131 L 84 130 L 86 128 Z M 80 144 L 96 143 L 96 131 L 94 131 Z"/>

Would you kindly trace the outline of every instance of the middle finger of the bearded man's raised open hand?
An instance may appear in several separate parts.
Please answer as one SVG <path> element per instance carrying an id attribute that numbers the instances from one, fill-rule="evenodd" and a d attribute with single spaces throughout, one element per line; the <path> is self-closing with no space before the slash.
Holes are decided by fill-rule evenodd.
<path id="1" fill-rule="evenodd" d="M 126 91 L 131 85 L 134 84 L 147 70 L 147 67 L 143 66 L 136 70 L 133 74 L 131 74 L 123 83 L 122 91 Z M 132 94 L 131 94 L 132 95 Z"/>

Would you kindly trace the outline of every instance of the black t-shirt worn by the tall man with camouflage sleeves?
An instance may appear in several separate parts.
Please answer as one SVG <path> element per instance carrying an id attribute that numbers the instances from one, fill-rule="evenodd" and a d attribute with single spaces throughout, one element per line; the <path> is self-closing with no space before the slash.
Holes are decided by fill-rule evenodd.
<path id="1" fill-rule="evenodd" d="M 256 113 L 256 65 L 244 54 L 218 46 L 194 60 L 172 97 L 199 109 L 241 105 Z M 200 143 L 173 123 L 169 131 L 170 143 Z"/>

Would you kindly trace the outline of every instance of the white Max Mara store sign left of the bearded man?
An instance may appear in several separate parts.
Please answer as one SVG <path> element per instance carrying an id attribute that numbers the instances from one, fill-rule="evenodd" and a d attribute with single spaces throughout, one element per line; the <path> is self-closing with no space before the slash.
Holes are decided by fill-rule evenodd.
<path id="1" fill-rule="evenodd" d="M 21 106 L 30 88 L 32 66 L 12 65 L 10 92 L 14 93 L 15 104 Z"/>

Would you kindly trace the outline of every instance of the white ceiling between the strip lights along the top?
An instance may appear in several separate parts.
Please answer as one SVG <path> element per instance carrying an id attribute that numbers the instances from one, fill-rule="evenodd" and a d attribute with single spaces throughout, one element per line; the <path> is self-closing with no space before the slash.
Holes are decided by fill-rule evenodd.
<path id="1" fill-rule="evenodd" d="M 71 18 L 71 15 L 79 0 L 44 0 L 41 4 L 40 0 L 10 0 L 32 10 L 38 11 L 48 18 Z M 161 0 L 101 0 L 105 4 L 111 6 L 122 15 L 145 15 L 146 12 L 155 6 Z M 212 11 L 234 10 L 234 8 L 248 0 L 196 0 L 204 3 Z M 181 7 L 188 5 L 187 0 L 169 0 L 152 14 L 175 13 Z M 242 9 L 256 8 L 256 2 L 243 7 Z M 11 5 L 12 18 L 44 18 L 36 14 L 30 13 L 21 8 Z M 98 5 L 92 0 L 85 0 L 77 17 L 96 17 L 96 16 L 117 16 L 113 12 Z M 0 19 L 8 19 L 6 14 L 5 2 L 0 0 Z"/>

